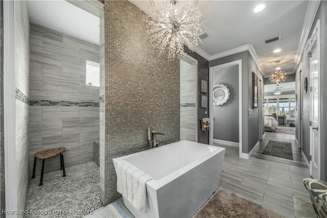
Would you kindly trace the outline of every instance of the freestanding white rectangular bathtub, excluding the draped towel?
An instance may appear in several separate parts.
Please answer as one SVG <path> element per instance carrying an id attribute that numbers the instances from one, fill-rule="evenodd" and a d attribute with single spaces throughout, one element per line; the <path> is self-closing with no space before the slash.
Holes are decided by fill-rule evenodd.
<path id="1" fill-rule="evenodd" d="M 218 188 L 225 148 L 180 141 L 113 159 L 127 161 L 148 173 L 147 213 L 124 198 L 135 217 L 192 217 Z"/>

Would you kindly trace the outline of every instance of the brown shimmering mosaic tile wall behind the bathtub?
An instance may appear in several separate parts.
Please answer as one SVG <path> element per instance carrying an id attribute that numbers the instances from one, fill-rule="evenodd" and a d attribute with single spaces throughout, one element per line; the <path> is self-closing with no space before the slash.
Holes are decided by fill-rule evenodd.
<path id="1" fill-rule="evenodd" d="M 144 15 L 128 1 L 105 2 L 105 205 L 120 197 L 112 158 L 148 149 L 149 126 L 165 133 L 159 145 L 179 141 L 179 59 L 149 45 Z"/>

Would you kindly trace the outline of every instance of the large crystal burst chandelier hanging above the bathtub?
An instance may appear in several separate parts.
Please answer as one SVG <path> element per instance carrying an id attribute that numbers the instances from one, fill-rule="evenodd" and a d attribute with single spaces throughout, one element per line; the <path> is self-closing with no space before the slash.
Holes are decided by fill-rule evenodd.
<path id="1" fill-rule="evenodd" d="M 151 1 L 145 20 L 150 42 L 160 54 L 168 51 L 168 59 L 184 55 L 184 45 L 191 51 L 198 45 L 202 32 L 201 12 L 192 0 Z M 200 40 L 201 41 L 201 40 Z"/>

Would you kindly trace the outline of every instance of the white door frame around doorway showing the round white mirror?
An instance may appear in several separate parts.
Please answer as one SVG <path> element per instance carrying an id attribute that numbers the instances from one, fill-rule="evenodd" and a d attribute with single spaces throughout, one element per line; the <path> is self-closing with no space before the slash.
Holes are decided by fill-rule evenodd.
<path id="1" fill-rule="evenodd" d="M 243 119 L 243 113 L 242 113 L 242 59 L 231 61 L 228 63 L 223 63 L 215 67 L 209 68 L 209 89 L 208 89 L 208 97 L 209 97 L 209 117 L 210 117 L 210 123 L 211 128 L 209 132 L 209 144 L 214 144 L 214 117 L 213 117 L 213 106 L 214 106 L 214 94 L 212 92 L 214 88 L 213 84 L 213 74 L 214 71 L 221 68 L 227 68 L 231 66 L 239 66 L 239 157 L 242 158 L 242 146 L 243 146 L 243 136 L 242 136 L 242 119 Z"/>

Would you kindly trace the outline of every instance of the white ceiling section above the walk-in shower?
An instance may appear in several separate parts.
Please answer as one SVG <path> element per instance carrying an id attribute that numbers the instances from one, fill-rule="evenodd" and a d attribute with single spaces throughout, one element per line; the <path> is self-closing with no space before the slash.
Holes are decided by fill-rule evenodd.
<path id="1" fill-rule="evenodd" d="M 99 45 L 100 18 L 64 0 L 28 1 L 30 21 Z"/>

